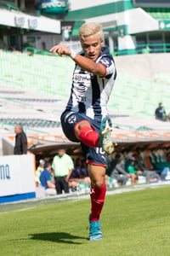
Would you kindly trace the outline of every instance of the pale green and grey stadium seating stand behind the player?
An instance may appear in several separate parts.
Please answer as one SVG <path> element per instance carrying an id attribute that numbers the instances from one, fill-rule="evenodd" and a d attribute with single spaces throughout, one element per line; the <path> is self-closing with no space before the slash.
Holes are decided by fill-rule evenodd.
<path id="1" fill-rule="evenodd" d="M 14 123 L 19 121 L 27 134 L 61 134 L 59 117 L 70 95 L 74 62 L 36 51 L 34 55 L 0 51 L 0 58 L 2 134 L 14 134 Z M 108 107 L 116 142 L 127 138 L 119 138 L 121 131 L 169 131 L 168 122 L 154 117 L 158 102 L 170 112 L 169 54 L 115 56 L 115 61 L 117 79 Z M 138 137 L 144 139 L 148 137 Z"/>

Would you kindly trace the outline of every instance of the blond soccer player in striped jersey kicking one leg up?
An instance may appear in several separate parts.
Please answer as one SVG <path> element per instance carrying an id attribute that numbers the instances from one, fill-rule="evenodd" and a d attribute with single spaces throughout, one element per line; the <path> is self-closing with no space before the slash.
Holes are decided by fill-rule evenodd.
<path id="1" fill-rule="evenodd" d="M 68 55 L 75 61 L 71 96 L 61 125 L 72 142 L 81 142 L 91 178 L 91 213 L 89 240 L 102 239 L 99 222 L 105 201 L 105 168 L 107 154 L 114 151 L 111 142 L 111 119 L 107 102 L 116 79 L 116 67 L 109 49 L 103 46 L 102 26 L 84 23 L 79 29 L 82 52 L 77 54 L 63 44 L 50 49 L 54 54 Z"/>

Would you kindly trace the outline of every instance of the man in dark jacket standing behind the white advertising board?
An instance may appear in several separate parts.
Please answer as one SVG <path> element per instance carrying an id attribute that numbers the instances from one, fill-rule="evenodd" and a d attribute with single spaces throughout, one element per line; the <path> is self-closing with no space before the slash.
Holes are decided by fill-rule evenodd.
<path id="1" fill-rule="evenodd" d="M 22 125 L 15 125 L 14 132 L 16 134 L 14 154 L 27 154 L 27 137 Z"/>

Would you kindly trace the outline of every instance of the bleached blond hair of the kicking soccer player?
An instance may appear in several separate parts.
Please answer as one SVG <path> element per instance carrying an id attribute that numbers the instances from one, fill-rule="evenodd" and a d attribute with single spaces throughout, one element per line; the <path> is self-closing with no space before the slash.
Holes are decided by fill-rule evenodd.
<path id="1" fill-rule="evenodd" d="M 80 40 L 83 41 L 84 38 L 91 35 L 97 35 L 100 39 L 103 38 L 102 26 L 99 23 L 89 22 L 82 24 L 79 29 Z"/>

